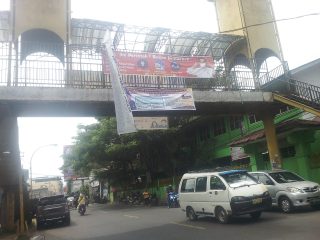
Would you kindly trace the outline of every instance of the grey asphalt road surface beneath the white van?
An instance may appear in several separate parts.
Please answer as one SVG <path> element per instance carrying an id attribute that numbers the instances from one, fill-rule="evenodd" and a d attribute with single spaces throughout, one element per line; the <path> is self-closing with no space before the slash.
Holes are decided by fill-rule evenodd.
<path id="1" fill-rule="evenodd" d="M 195 239 L 320 239 L 320 211 L 292 214 L 264 212 L 258 221 L 237 217 L 222 225 L 214 218 L 191 222 L 180 208 L 89 206 L 85 216 L 72 211 L 71 225 L 56 224 L 39 231 L 46 240 L 195 240 Z"/>

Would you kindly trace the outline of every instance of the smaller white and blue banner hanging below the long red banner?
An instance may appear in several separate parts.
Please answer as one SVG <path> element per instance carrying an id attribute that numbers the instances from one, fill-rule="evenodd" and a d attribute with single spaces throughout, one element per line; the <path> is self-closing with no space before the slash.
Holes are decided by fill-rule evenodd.
<path id="1" fill-rule="evenodd" d="M 191 88 L 126 87 L 132 111 L 196 110 Z"/>

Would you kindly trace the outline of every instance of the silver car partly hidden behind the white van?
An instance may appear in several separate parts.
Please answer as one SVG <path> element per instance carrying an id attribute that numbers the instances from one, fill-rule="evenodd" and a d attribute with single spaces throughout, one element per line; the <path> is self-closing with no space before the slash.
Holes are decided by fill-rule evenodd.
<path id="1" fill-rule="evenodd" d="M 273 206 L 280 207 L 285 213 L 291 212 L 296 207 L 320 208 L 318 183 L 307 181 L 286 170 L 250 172 L 250 174 L 265 184 L 272 197 Z"/>

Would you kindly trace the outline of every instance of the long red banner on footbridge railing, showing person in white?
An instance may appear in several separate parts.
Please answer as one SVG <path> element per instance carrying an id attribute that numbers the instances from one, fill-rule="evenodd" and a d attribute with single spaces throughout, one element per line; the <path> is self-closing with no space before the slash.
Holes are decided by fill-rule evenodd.
<path id="1" fill-rule="evenodd" d="M 174 56 L 121 51 L 114 53 L 120 74 L 186 78 L 212 78 L 214 76 L 214 61 L 210 56 Z M 105 73 L 110 73 L 105 54 L 103 69 Z"/>

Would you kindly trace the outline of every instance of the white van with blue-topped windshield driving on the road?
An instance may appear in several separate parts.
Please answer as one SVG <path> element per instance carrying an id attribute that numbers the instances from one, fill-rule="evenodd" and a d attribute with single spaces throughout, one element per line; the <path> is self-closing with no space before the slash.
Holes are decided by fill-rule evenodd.
<path id="1" fill-rule="evenodd" d="M 271 207 L 267 188 L 244 170 L 186 173 L 179 184 L 179 202 L 190 220 L 210 216 L 220 223 L 243 214 L 258 219 Z"/>

